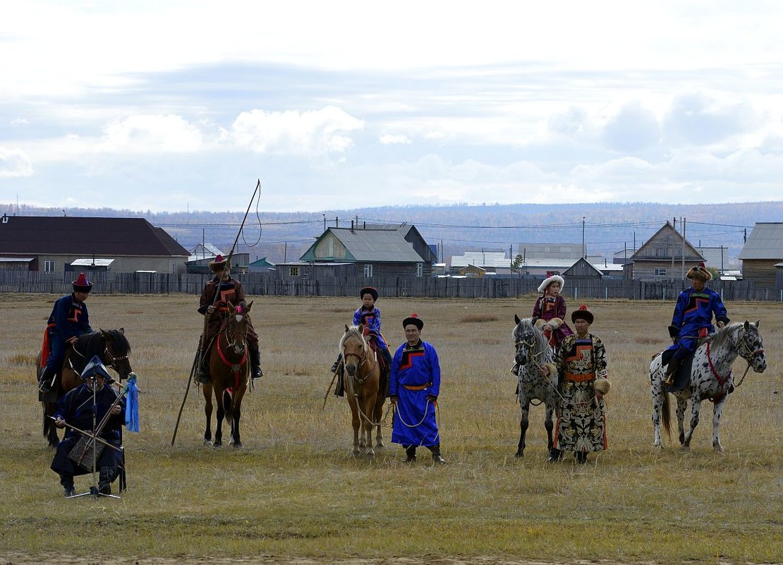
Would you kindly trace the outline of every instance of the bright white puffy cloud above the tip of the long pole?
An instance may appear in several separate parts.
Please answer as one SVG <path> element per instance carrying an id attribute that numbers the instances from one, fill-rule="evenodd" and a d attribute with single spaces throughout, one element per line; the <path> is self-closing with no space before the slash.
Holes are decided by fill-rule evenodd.
<path id="1" fill-rule="evenodd" d="M 354 144 L 349 132 L 360 131 L 364 122 L 336 106 L 298 112 L 250 110 L 231 124 L 237 146 L 273 155 L 323 156 L 343 153 Z"/>

